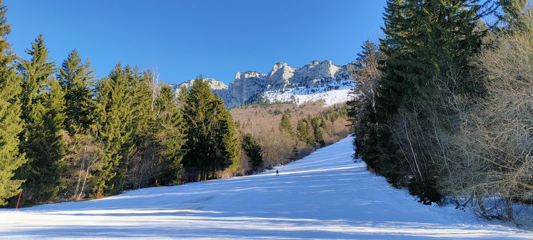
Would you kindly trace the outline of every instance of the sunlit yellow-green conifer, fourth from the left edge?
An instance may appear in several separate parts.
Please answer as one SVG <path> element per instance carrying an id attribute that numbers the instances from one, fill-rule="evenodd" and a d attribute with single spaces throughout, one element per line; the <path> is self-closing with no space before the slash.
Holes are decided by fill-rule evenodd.
<path id="1" fill-rule="evenodd" d="M 132 78 L 135 73 L 129 66 L 115 66 L 109 76 L 98 83 L 96 128 L 103 142 L 103 167 L 95 173 L 94 192 L 98 197 L 120 191 L 126 178 L 126 164 L 134 151 L 131 124 L 133 100 Z"/>

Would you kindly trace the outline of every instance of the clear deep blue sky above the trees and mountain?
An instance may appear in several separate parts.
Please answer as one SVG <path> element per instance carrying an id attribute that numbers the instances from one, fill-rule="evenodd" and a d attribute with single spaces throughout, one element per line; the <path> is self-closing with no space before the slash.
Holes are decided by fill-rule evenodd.
<path id="1" fill-rule="evenodd" d="M 3 0 L 15 53 L 42 33 L 56 65 L 74 48 L 99 78 L 118 63 L 157 68 L 166 83 L 203 74 L 228 84 L 237 71 L 276 62 L 345 65 L 382 37 L 385 0 Z"/>

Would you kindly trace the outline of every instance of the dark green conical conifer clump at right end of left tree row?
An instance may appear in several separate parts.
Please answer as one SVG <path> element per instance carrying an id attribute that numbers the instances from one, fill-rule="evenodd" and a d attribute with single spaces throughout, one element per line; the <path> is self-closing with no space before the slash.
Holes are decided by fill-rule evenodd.
<path id="1" fill-rule="evenodd" d="M 183 108 L 187 153 L 183 164 L 189 180 L 217 178 L 217 171 L 238 168 L 239 148 L 231 114 L 203 78 L 196 78 Z"/>

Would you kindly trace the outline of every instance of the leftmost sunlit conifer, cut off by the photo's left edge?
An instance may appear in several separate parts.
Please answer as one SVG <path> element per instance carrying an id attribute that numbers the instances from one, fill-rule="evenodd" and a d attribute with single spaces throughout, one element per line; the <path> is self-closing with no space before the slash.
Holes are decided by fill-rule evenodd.
<path id="1" fill-rule="evenodd" d="M 6 10 L 0 1 L 0 206 L 19 193 L 24 180 L 12 177 L 14 171 L 26 162 L 24 154 L 19 153 L 18 139 L 22 132 L 18 98 L 21 78 L 13 67 L 16 56 L 6 41 L 11 32 L 10 24 L 6 23 Z"/>

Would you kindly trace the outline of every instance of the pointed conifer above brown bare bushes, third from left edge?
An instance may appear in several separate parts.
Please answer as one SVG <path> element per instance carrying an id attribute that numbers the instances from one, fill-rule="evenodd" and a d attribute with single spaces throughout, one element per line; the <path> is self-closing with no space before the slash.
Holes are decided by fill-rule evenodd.
<path id="1" fill-rule="evenodd" d="M 63 61 L 58 80 L 65 91 L 65 129 L 70 135 L 86 132 L 94 116 L 94 70 L 89 59 L 82 62 L 76 49 Z"/>

